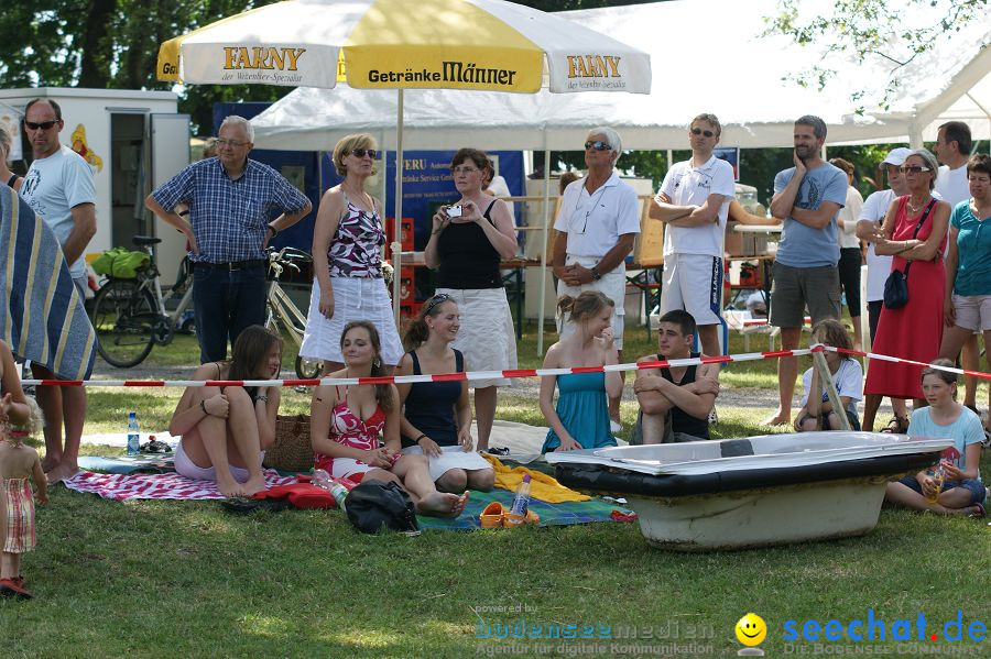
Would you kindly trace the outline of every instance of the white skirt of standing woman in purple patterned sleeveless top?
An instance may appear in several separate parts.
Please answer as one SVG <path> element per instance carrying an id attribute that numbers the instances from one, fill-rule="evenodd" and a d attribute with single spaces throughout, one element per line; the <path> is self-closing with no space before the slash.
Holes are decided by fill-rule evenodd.
<path id="1" fill-rule="evenodd" d="M 370 320 L 379 330 L 382 363 L 394 366 L 403 356 L 403 344 L 395 329 L 392 300 L 382 278 L 330 277 L 334 286 L 334 317 L 320 314 L 320 285 L 314 279 L 306 314 L 306 332 L 300 354 L 308 359 L 344 363 L 340 334 L 352 320 Z"/>

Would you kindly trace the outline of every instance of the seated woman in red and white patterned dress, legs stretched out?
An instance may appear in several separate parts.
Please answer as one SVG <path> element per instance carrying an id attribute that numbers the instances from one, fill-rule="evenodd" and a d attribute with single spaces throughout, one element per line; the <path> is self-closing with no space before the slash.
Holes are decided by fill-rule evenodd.
<path id="1" fill-rule="evenodd" d="M 349 322 L 340 337 L 345 369 L 329 377 L 384 375 L 379 332 L 367 320 Z M 382 435 L 385 443 L 379 439 Z M 324 385 L 311 404 L 309 436 L 316 469 L 352 481 L 393 481 L 403 485 L 416 512 L 457 517 L 468 493 L 437 492 L 426 458 L 400 452 L 400 405 L 393 384 Z"/>

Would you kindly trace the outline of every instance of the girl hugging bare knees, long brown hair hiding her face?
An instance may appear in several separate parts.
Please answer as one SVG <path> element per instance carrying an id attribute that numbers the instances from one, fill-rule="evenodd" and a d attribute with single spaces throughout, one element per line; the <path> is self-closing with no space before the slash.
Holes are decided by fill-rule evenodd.
<path id="1" fill-rule="evenodd" d="M 282 339 L 260 325 L 244 329 L 229 362 L 200 365 L 194 380 L 271 380 L 282 369 Z M 261 463 L 275 441 L 277 386 L 193 386 L 183 393 L 168 432 L 182 435 L 175 471 L 216 481 L 224 496 L 251 496 L 265 488 Z"/>

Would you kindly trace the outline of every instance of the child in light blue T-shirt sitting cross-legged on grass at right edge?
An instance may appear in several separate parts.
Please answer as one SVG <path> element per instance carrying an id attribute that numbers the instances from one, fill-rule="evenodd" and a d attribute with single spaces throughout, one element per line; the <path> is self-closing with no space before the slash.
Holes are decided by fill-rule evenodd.
<path id="1" fill-rule="evenodd" d="M 943 453 L 944 483 L 939 487 L 932 470 L 887 484 L 884 501 L 915 510 L 939 515 L 984 516 L 987 490 L 981 482 L 981 440 L 984 430 L 973 411 L 957 403 L 957 374 L 932 366 L 952 369 L 946 359 L 923 369 L 922 386 L 928 407 L 912 413 L 910 437 L 952 439 L 955 446 Z M 928 496 L 928 498 L 926 498 Z"/>

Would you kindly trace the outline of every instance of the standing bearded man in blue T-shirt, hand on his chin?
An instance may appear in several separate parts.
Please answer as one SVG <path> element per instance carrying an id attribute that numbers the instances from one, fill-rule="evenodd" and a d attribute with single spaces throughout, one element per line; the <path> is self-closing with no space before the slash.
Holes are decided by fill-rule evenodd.
<path id="1" fill-rule="evenodd" d="M 847 174 L 823 160 L 826 122 L 806 114 L 795 121 L 794 167 L 774 177 L 771 215 L 784 222 L 774 260 L 771 319 L 781 328 L 783 350 L 798 348 L 805 309 L 813 325 L 839 318 L 839 240 L 836 218 L 847 202 Z M 792 396 L 798 376 L 796 358 L 777 361 L 777 411 L 764 425 L 792 419 Z"/>

